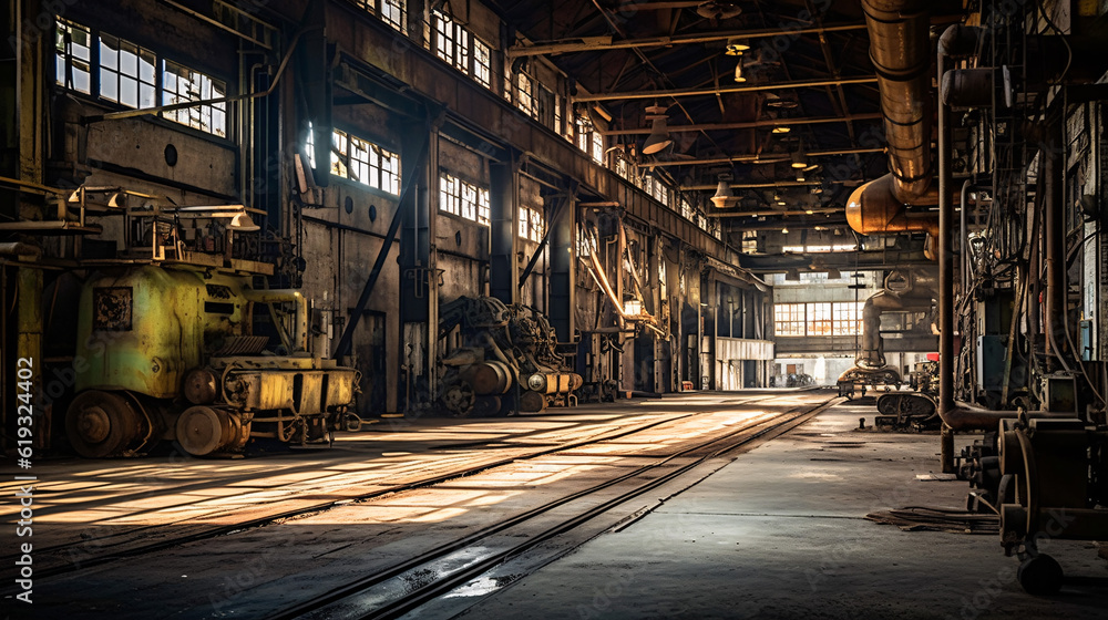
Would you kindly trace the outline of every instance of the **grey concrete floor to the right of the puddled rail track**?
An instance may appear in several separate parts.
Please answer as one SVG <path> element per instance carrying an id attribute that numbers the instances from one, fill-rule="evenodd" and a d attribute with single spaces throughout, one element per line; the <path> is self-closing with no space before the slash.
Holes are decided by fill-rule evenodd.
<path id="1" fill-rule="evenodd" d="M 994 535 L 865 520 L 910 505 L 962 507 L 967 489 L 916 479 L 938 469 L 936 435 L 854 430 L 873 413 L 872 404 L 837 405 L 465 616 L 1108 618 L 1108 571 L 1091 542 L 1047 541 L 1067 583 L 1036 598 Z"/>

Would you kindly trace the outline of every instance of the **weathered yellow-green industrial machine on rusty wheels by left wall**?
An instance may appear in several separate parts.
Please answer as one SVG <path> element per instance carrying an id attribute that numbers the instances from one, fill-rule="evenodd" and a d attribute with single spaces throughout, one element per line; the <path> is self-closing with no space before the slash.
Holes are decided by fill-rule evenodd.
<path id="1" fill-rule="evenodd" d="M 76 318 L 73 448 L 133 456 L 175 441 L 206 456 L 257 437 L 328 444 L 348 415 L 357 421 L 347 409 L 359 373 L 310 351 L 308 300 L 255 288 L 271 267 L 233 257 L 234 234 L 257 230 L 247 209 L 165 208 L 138 196 L 138 208 L 121 209 L 124 229 L 136 231 L 126 254 L 86 264 L 96 270 Z M 276 337 L 254 332 L 264 319 Z"/>

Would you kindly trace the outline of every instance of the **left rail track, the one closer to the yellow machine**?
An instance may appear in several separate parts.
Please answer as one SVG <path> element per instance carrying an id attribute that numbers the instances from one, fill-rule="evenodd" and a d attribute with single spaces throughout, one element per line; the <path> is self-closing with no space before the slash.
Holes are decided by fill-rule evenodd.
<path id="1" fill-rule="evenodd" d="M 732 404 L 749 404 L 773 396 L 756 395 L 742 399 L 735 399 L 731 402 Z M 307 515 L 325 513 L 331 508 L 335 508 L 340 505 L 346 505 L 351 502 L 367 502 L 367 500 L 383 498 L 398 493 L 431 487 L 448 480 L 472 476 L 483 472 L 495 469 L 496 467 L 501 467 L 514 462 L 540 458 L 552 454 L 570 452 L 573 450 L 588 446 L 591 444 L 609 442 L 622 437 L 632 436 L 637 433 L 643 433 L 644 431 L 648 431 L 650 428 L 655 428 L 664 424 L 670 424 L 694 417 L 699 414 L 704 414 L 710 409 L 712 407 L 698 407 L 696 411 L 688 413 L 666 415 L 660 418 L 652 420 L 644 424 L 637 424 L 630 427 L 623 426 L 612 432 L 602 432 L 596 435 L 589 435 L 584 438 L 572 440 L 567 443 L 558 444 L 551 447 L 545 447 L 543 450 L 531 451 L 523 454 L 516 453 L 504 458 L 485 461 L 475 465 L 451 468 L 445 472 L 438 472 L 434 473 L 433 475 L 419 477 L 410 482 L 388 485 L 382 488 L 377 488 L 372 492 L 356 494 L 352 496 L 343 496 L 340 499 L 311 503 L 288 510 L 270 512 L 256 518 L 235 520 L 234 523 L 225 525 L 216 525 L 216 526 L 206 524 L 195 524 L 189 526 L 191 528 L 193 528 L 193 531 L 188 534 L 174 535 L 160 540 L 142 541 L 143 539 L 148 539 L 150 537 L 156 536 L 160 531 L 167 530 L 171 526 L 179 527 L 182 526 L 182 521 L 168 521 L 157 525 L 138 526 L 121 533 L 112 533 L 103 536 L 85 537 L 79 540 L 73 540 L 60 545 L 43 546 L 41 548 L 35 549 L 37 551 L 35 562 L 39 567 L 41 567 L 37 568 L 35 576 L 39 578 L 49 578 L 49 577 L 72 574 L 92 567 L 110 564 L 113 561 L 120 561 L 124 559 L 130 559 L 157 552 L 161 550 L 170 549 L 189 542 L 217 538 L 220 536 L 237 534 L 244 530 L 266 527 L 269 525 L 284 523 L 286 520 L 295 519 Z M 244 476 L 236 476 L 233 478 L 238 479 L 238 478 L 244 478 Z M 220 480 L 219 484 L 228 484 L 228 483 L 226 480 Z M 326 478 L 324 480 L 316 480 L 315 484 L 326 485 L 327 480 Z M 273 502 L 273 504 L 276 504 L 276 502 Z M 254 508 L 259 508 L 259 507 L 264 509 L 265 504 L 258 504 L 254 506 Z M 233 512 L 234 512 L 233 509 L 228 509 L 224 510 L 223 514 L 229 514 Z M 205 515 L 205 518 L 211 518 L 212 516 L 214 515 L 208 514 Z M 106 546 L 112 546 L 115 548 L 111 550 L 100 551 L 101 548 Z M 88 551 L 88 549 L 90 548 L 94 549 L 94 551 L 93 552 Z M 14 556 L 0 557 L 0 560 L 8 560 L 13 557 Z M 3 591 L 7 590 L 8 588 L 3 589 Z"/>

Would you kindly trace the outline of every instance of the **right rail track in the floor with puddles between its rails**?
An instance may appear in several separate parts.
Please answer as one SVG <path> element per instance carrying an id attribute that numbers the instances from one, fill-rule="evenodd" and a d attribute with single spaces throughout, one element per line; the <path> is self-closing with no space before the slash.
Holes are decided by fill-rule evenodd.
<path id="1" fill-rule="evenodd" d="M 269 620 L 399 618 L 471 582 L 512 558 L 675 480 L 710 459 L 743 447 L 753 447 L 761 441 L 786 433 L 811 420 L 835 402 L 838 400 L 814 407 L 798 407 L 804 411 L 793 410 L 789 414 L 769 420 L 750 421 L 722 435 L 695 442 L 624 475 L 514 515 L 391 568 L 359 577 L 318 597 L 274 613 L 269 616 Z M 598 494 L 609 489 L 616 490 L 614 496 L 603 498 L 598 503 L 594 502 L 581 510 L 572 510 L 573 516 L 561 519 L 553 526 L 534 525 L 543 519 L 548 520 L 550 515 L 558 508 L 572 507 L 574 503 L 581 500 L 595 499 Z M 643 514 L 639 512 L 634 518 L 637 519 Z M 531 530 L 527 530 L 529 526 Z M 511 534 L 513 531 L 514 535 Z M 505 540 L 522 541 L 505 545 Z M 570 550 L 572 549 L 563 548 L 557 557 Z M 553 559 L 556 557 L 542 564 Z"/>

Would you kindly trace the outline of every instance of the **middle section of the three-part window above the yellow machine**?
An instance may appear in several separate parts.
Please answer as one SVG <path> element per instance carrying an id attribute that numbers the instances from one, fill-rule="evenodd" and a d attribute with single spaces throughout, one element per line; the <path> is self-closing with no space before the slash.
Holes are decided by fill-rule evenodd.
<path id="1" fill-rule="evenodd" d="M 134 43 L 100 35 L 100 96 L 127 107 L 154 107 L 157 59 Z"/>

